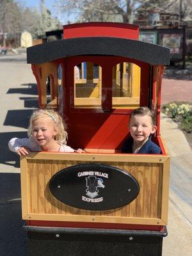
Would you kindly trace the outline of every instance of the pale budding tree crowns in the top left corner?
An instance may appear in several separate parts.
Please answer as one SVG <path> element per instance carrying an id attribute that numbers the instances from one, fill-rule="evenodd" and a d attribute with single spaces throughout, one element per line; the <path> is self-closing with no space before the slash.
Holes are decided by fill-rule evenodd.
<path id="1" fill-rule="evenodd" d="M 0 28 L 12 38 L 20 38 L 23 31 L 28 31 L 33 38 L 42 36 L 45 31 L 60 28 L 58 19 L 51 16 L 44 1 L 41 12 L 36 8 L 25 8 L 14 0 L 0 0 Z"/>

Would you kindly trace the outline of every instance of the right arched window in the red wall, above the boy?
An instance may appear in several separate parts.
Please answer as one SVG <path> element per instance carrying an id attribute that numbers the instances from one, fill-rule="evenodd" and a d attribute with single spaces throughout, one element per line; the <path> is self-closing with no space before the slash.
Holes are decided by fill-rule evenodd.
<path id="1" fill-rule="evenodd" d="M 140 67 L 134 63 L 118 63 L 113 67 L 113 108 L 140 106 Z"/>

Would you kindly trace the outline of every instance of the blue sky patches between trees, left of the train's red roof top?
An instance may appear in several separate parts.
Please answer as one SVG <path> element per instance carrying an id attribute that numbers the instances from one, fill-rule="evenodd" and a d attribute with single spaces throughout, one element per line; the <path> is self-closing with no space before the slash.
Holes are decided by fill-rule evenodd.
<path id="1" fill-rule="evenodd" d="M 26 7 L 31 7 L 31 8 L 38 8 L 40 9 L 40 0 L 19 0 L 20 3 L 24 4 Z M 62 17 L 57 13 L 56 8 L 54 8 L 54 3 L 56 0 L 44 0 L 45 6 L 51 11 L 51 14 L 53 17 L 58 17 L 60 20 L 61 24 L 66 24 L 67 20 L 69 19 L 68 17 Z M 70 20 L 73 20 L 73 15 L 70 16 Z"/>

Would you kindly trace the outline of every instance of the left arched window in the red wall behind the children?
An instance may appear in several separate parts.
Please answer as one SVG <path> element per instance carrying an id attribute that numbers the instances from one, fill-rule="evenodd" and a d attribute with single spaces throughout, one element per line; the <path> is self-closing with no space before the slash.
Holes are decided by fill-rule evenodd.
<path id="1" fill-rule="evenodd" d="M 101 108 L 101 72 L 92 62 L 74 67 L 74 108 Z"/>

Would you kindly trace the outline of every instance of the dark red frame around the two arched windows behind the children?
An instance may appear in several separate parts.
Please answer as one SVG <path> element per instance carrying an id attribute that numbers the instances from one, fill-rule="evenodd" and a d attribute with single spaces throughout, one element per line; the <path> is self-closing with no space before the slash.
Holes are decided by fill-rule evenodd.
<path id="1" fill-rule="evenodd" d="M 109 59 L 111 58 L 112 60 L 112 63 L 110 63 Z M 68 74 L 71 72 L 74 73 L 74 66 L 78 65 L 79 63 L 82 63 L 82 62 L 86 62 L 86 61 L 90 61 L 94 64 L 97 64 L 99 65 L 101 68 L 102 68 L 102 84 L 103 84 L 103 80 L 104 80 L 104 75 L 103 75 L 103 72 L 104 72 L 104 67 L 106 68 L 106 62 L 108 61 L 109 63 L 109 72 L 111 72 L 112 74 L 112 68 L 114 65 L 118 64 L 118 63 L 121 63 L 121 62 L 129 62 L 129 63 L 132 63 L 134 65 L 137 65 L 139 68 L 140 68 L 140 99 L 138 99 L 138 104 L 137 106 L 130 106 L 130 108 L 124 108 L 124 107 L 121 107 L 120 108 L 113 108 L 113 105 L 112 105 L 112 86 L 113 86 L 113 82 L 112 82 L 112 77 L 110 78 L 111 80 L 111 85 L 110 86 L 106 86 L 104 88 L 104 86 L 102 86 L 102 92 L 103 90 L 108 90 L 108 94 L 111 95 L 111 99 L 109 99 L 109 103 L 107 102 L 104 102 L 104 104 L 102 104 L 102 108 L 74 108 L 74 99 L 72 99 L 72 97 L 74 97 L 74 74 L 72 74 L 72 77 L 73 77 L 73 81 L 69 81 L 70 85 L 70 104 L 69 104 L 69 108 L 70 108 L 70 111 L 72 112 L 78 112 L 78 111 L 84 111 L 84 112 L 98 112 L 98 113 L 122 113 L 122 111 L 125 111 L 127 113 L 127 109 L 134 109 L 134 108 L 138 108 L 139 106 L 146 106 L 148 105 L 148 90 L 147 90 L 147 86 L 146 84 L 150 82 L 150 77 L 148 77 L 148 80 L 146 82 L 146 79 L 145 79 L 145 73 L 146 73 L 146 68 L 147 68 L 147 72 L 148 70 L 150 70 L 150 65 L 148 63 L 141 63 L 141 61 L 138 61 L 138 60 L 133 60 L 131 58 L 127 58 L 127 57 L 123 57 L 123 56 L 71 56 L 70 58 L 66 58 L 65 61 L 70 60 L 70 63 L 67 62 L 67 70 L 65 70 L 65 72 Z M 107 59 L 107 61 L 106 61 Z M 66 67 L 66 66 L 65 66 Z M 143 69 L 143 67 L 145 67 Z M 110 70 L 111 68 L 111 70 Z M 143 70 L 142 70 L 143 69 Z M 143 86 L 143 84 L 141 84 L 141 80 L 143 78 L 143 81 L 145 82 L 145 86 Z M 109 92 L 111 91 L 111 92 Z M 141 91 L 145 94 L 147 94 L 147 100 L 143 100 L 144 102 L 142 102 L 141 100 Z M 103 95 L 102 93 L 102 98 L 103 97 L 106 97 L 106 95 Z M 108 97 L 108 98 L 110 98 Z M 88 98 L 84 98 L 84 99 L 88 99 Z M 125 101 L 127 99 L 131 99 L 131 98 L 126 98 L 125 97 Z M 111 102 L 110 102 L 111 101 Z M 103 103 L 103 102 L 102 102 Z M 92 106 L 94 106 L 95 104 L 92 104 Z"/>

